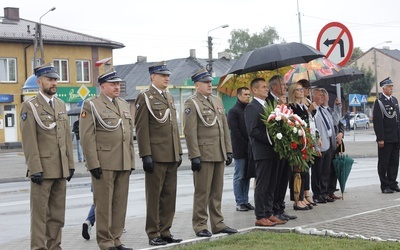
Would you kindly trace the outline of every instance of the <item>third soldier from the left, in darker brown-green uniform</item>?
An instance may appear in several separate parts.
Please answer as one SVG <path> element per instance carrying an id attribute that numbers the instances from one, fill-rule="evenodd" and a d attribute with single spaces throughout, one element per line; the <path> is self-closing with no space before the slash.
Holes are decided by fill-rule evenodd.
<path id="1" fill-rule="evenodd" d="M 146 182 L 149 244 L 177 243 L 170 228 L 175 215 L 177 169 L 182 163 L 176 108 L 166 92 L 171 72 L 165 62 L 149 67 L 151 86 L 136 98 L 136 138 Z"/>

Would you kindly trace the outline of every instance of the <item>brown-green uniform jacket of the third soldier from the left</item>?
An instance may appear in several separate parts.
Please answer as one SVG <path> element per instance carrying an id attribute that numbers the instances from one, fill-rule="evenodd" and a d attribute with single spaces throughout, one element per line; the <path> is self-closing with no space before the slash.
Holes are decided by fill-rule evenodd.
<path id="1" fill-rule="evenodd" d="M 178 162 L 182 154 L 176 108 L 172 95 L 164 98 L 156 88 L 136 98 L 136 139 L 139 156 L 151 155 L 155 162 Z"/>

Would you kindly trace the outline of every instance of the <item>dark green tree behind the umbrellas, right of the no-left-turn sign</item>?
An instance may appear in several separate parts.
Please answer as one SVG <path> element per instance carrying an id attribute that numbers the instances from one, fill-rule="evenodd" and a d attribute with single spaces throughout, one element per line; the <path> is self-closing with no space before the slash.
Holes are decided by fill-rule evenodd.
<path id="1" fill-rule="evenodd" d="M 358 68 L 357 63 L 352 65 L 354 68 Z M 375 74 L 372 71 L 371 67 L 366 69 L 364 66 L 358 68 L 364 73 L 364 78 L 361 78 L 356 81 L 352 81 L 351 83 L 343 84 L 343 90 L 345 92 L 346 101 L 349 100 L 349 94 L 361 94 L 369 96 L 372 87 L 375 83 Z"/>

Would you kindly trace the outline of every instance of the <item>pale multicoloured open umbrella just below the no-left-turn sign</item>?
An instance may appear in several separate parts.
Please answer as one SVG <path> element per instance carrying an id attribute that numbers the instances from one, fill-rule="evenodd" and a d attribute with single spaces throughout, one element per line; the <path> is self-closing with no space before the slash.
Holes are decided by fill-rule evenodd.
<path id="1" fill-rule="evenodd" d="M 315 82 L 324 76 L 338 74 L 341 67 L 331 60 L 321 57 L 308 63 L 292 65 L 292 69 L 284 76 L 286 83 L 294 83 L 301 79 Z"/>

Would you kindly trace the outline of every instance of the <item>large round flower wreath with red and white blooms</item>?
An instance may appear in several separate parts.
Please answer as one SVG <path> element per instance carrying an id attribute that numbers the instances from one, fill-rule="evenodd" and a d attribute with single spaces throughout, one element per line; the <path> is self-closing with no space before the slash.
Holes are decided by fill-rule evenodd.
<path id="1" fill-rule="evenodd" d="M 306 171 L 314 163 L 314 145 L 310 128 L 286 105 L 268 105 L 262 120 L 267 126 L 267 135 L 280 158 L 289 162 L 296 171 Z M 272 139 L 272 141 L 271 141 Z"/>

